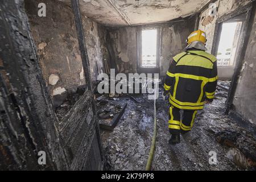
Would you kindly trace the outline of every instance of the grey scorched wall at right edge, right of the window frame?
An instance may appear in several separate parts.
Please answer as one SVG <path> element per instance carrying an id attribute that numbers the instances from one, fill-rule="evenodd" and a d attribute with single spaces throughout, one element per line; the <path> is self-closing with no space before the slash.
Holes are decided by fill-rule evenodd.
<path id="1" fill-rule="evenodd" d="M 256 125 L 256 12 L 245 52 L 245 59 L 238 78 L 233 104 L 237 113 Z M 248 32 L 249 33 L 249 32 Z"/>

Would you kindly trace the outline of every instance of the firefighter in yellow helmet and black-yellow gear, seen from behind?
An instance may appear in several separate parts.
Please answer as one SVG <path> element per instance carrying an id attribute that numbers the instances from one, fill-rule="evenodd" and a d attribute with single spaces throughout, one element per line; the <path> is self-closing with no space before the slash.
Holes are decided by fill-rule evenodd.
<path id="1" fill-rule="evenodd" d="M 168 69 L 164 95 L 170 95 L 170 144 L 180 143 L 180 134 L 185 140 L 191 139 L 189 131 L 193 127 L 197 110 L 202 110 L 205 103 L 213 101 L 218 79 L 217 59 L 205 52 L 206 42 L 204 31 L 192 32 L 184 52 L 173 57 Z"/>

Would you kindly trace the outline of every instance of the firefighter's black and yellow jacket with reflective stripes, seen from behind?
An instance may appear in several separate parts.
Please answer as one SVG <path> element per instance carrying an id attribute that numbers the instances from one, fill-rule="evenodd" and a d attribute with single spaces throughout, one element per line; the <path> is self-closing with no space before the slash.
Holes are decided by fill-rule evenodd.
<path id="1" fill-rule="evenodd" d="M 216 57 L 199 49 L 176 55 L 168 69 L 164 89 L 170 104 L 185 110 L 201 110 L 213 101 L 217 86 Z"/>

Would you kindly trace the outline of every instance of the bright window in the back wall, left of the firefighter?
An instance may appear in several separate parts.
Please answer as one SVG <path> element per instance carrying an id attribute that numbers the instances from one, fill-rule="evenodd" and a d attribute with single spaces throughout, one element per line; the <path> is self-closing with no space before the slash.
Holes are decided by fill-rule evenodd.
<path id="1" fill-rule="evenodd" d="M 159 28 L 141 29 L 139 40 L 139 67 L 159 67 Z"/>

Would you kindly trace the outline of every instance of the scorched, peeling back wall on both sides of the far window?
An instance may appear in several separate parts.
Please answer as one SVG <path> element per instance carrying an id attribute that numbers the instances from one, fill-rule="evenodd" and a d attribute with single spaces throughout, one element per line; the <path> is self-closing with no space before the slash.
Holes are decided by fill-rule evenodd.
<path id="1" fill-rule="evenodd" d="M 154 24 L 161 27 L 159 63 L 161 76 L 166 75 L 172 57 L 185 48 L 185 40 L 194 30 L 195 23 L 196 18 L 193 16 L 179 19 L 177 22 Z M 106 32 L 107 38 L 104 41 L 109 54 L 106 57 L 117 65 L 119 73 L 137 72 L 137 31 L 138 26 L 109 28 Z"/>

